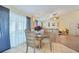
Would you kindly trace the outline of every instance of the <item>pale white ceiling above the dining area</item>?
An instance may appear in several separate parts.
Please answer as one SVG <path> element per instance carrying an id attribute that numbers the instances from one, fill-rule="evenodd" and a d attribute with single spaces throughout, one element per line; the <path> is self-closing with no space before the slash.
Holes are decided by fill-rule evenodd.
<path id="1" fill-rule="evenodd" d="M 58 14 L 65 14 L 73 10 L 78 10 L 78 5 L 13 5 L 18 10 L 24 13 L 42 16 L 57 12 Z"/>

